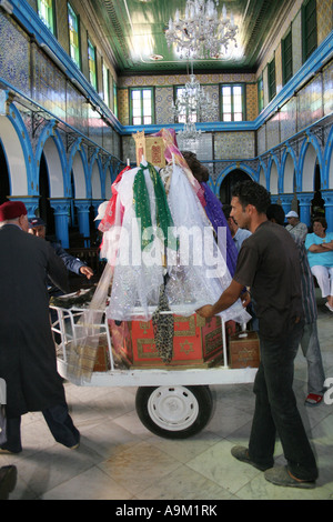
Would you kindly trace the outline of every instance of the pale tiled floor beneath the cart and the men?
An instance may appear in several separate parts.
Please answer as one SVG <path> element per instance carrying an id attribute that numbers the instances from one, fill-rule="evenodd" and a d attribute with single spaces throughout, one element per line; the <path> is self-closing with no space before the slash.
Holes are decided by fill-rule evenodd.
<path id="1" fill-rule="evenodd" d="M 333 314 L 319 302 L 319 330 L 326 378 L 333 378 Z M 10 500 L 280 500 L 333 499 L 333 404 L 304 406 L 306 362 L 299 352 L 294 389 L 317 458 L 314 490 L 280 488 L 262 472 L 231 456 L 246 444 L 253 414 L 252 384 L 212 387 L 213 416 L 200 434 L 184 441 L 153 435 L 139 421 L 135 389 L 80 388 L 65 383 L 81 445 L 54 443 L 40 413 L 23 416 L 23 452 L 0 455 L 16 464 Z M 333 399 L 333 389 L 331 399 Z M 284 462 L 276 443 L 276 463 Z"/>

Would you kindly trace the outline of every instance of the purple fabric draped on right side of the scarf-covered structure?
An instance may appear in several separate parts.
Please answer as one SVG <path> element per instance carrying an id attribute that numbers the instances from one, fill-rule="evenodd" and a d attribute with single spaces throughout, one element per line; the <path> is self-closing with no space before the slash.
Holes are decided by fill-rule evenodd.
<path id="1" fill-rule="evenodd" d="M 209 188 L 206 183 L 202 182 L 201 185 L 204 189 L 204 199 L 206 202 L 206 207 L 204 210 L 215 232 L 218 233 L 219 227 L 226 228 L 226 265 L 229 268 L 231 277 L 233 277 L 236 261 L 238 261 L 238 250 L 232 239 L 226 218 L 223 213 L 222 203 L 216 198 L 216 195 L 211 191 L 211 189 Z"/>

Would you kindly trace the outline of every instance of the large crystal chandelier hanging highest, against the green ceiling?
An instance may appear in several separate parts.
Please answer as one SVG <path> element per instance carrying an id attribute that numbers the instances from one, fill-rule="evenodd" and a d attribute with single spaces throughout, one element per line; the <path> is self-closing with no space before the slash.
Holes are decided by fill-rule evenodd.
<path id="1" fill-rule="evenodd" d="M 228 51 L 230 42 L 236 47 L 233 14 L 226 18 L 225 6 L 222 18 L 218 16 L 219 0 L 188 0 L 184 19 L 175 11 L 174 20 L 169 20 L 165 38 L 169 47 L 176 46 L 180 58 L 220 58 Z"/>

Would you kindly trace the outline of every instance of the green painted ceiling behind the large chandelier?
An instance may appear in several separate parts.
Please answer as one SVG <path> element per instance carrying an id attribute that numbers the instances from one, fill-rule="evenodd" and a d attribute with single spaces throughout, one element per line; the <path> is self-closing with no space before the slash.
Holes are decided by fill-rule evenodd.
<path id="1" fill-rule="evenodd" d="M 181 72 L 188 70 L 188 61 L 180 60 L 174 50 L 168 48 L 164 31 L 175 10 L 183 14 L 186 0 L 91 0 L 110 46 L 114 53 L 115 68 L 123 74 Z M 276 29 L 291 0 L 220 0 L 228 16 L 233 12 L 239 26 L 238 48 L 228 59 L 198 60 L 194 69 L 255 70 L 266 38 Z M 160 54 L 162 60 L 150 57 Z"/>

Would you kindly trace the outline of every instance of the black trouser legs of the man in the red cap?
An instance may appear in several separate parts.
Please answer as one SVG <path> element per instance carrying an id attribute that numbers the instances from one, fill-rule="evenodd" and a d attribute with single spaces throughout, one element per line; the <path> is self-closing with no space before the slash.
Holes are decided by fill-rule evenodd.
<path id="1" fill-rule="evenodd" d="M 57 442 L 68 448 L 80 442 L 80 432 L 73 424 L 68 412 L 67 404 L 57 404 L 42 411 L 44 420 Z M 20 453 L 21 443 L 21 418 L 7 419 L 7 442 L 2 444 L 2 450 Z"/>

